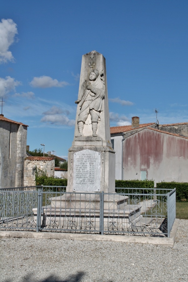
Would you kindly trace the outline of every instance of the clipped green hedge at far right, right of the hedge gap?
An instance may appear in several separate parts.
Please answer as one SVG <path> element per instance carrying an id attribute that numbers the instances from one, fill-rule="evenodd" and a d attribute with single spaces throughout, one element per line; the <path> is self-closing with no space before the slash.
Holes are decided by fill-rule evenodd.
<path id="1" fill-rule="evenodd" d="M 188 201 L 188 183 L 186 182 L 160 182 L 156 184 L 157 189 L 176 189 L 176 201 Z"/>

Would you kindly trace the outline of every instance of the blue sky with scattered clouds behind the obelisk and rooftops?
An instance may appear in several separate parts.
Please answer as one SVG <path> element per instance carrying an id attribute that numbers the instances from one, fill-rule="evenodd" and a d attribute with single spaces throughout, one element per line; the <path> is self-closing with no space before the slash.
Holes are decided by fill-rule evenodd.
<path id="1" fill-rule="evenodd" d="M 0 0 L 0 100 L 67 158 L 82 55 L 106 58 L 110 126 L 188 122 L 188 1 Z M 0 103 L 1 105 L 1 103 Z"/>

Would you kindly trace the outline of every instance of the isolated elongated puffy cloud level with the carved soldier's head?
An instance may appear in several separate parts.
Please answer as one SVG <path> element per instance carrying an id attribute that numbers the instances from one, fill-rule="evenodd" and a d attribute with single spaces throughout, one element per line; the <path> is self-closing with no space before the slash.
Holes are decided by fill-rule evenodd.
<path id="1" fill-rule="evenodd" d="M 57 79 L 52 79 L 49 76 L 41 76 L 41 77 L 34 77 L 33 80 L 30 82 L 30 85 L 33 87 L 39 88 L 50 88 L 50 87 L 64 87 L 69 85 L 66 81 L 58 81 Z"/>

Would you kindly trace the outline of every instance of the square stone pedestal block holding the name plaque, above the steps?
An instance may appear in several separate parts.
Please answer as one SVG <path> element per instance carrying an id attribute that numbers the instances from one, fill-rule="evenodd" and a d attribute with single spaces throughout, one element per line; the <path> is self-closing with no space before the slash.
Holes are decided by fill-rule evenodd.
<path id="1" fill-rule="evenodd" d="M 112 147 L 72 146 L 68 163 L 67 192 L 115 192 L 115 151 Z"/>

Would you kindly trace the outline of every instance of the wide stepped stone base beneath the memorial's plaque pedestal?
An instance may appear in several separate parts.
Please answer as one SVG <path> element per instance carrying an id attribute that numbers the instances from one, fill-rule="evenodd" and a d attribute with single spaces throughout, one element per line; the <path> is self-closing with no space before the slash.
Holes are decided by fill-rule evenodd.
<path id="1" fill-rule="evenodd" d="M 128 205 L 128 196 L 104 194 L 103 208 L 100 194 L 64 194 L 51 198 L 51 205 L 43 207 L 41 226 L 48 229 L 100 231 L 128 231 L 141 219 L 140 205 Z M 34 209 L 36 221 L 37 209 Z"/>

